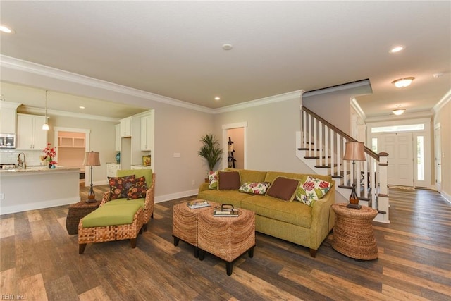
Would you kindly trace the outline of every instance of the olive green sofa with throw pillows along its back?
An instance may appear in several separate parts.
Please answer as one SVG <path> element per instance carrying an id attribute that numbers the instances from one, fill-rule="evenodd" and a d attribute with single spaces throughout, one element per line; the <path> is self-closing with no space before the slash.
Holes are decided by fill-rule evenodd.
<path id="1" fill-rule="evenodd" d="M 277 171 L 231 168 L 227 170 L 240 172 L 240 184 L 273 183 L 278 176 L 297 180 L 307 176 L 302 173 Z M 334 226 L 335 215 L 330 206 L 335 204 L 335 181 L 330 176 L 316 174 L 309 176 L 332 183 L 326 195 L 314 202 L 311 207 L 297 200 L 288 202 L 266 195 L 250 195 L 238 190 L 209 189 L 209 183 L 200 185 L 197 197 L 254 211 L 256 231 L 309 247 L 311 257 L 316 257 L 316 251 Z M 219 180 L 221 181 L 221 178 Z"/>

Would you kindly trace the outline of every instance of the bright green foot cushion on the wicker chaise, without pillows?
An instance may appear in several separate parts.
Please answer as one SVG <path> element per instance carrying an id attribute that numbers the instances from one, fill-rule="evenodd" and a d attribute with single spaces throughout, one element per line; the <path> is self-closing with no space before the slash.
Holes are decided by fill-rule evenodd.
<path id="1" fill-rule="evenodd" d="M 126 205 L 101 206 L 85 216 L 82 225 L 84 228 L 128 225 L 133 223 L 139 209 L 139 204 L 130 202 Z"/>

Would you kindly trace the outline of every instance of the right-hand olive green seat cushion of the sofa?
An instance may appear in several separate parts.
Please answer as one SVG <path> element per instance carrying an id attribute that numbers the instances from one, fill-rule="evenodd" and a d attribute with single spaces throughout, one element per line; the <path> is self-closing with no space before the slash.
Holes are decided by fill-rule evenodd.
<path id="1" fill-rule="evenodd" d="M 285 202 L 272 197 L 254 195 L 243 199 L 241 207 L 269 219 L 285 221 L 304 228 L 310 228 L 311 225 L 311 207 L 301 202 Z"/>

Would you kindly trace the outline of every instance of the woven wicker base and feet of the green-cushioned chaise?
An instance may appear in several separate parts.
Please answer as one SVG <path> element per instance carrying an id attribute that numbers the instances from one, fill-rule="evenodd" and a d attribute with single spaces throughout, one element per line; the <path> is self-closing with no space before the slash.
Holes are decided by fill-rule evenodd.
<path id="1" fill-rule="evenodd" d="M 132 248 L 136 247 L 136 238 L 142 231 L 144 212 L 138 209 L 132 223 L 104 227 L 83 227 L 83 219 L 78 223 L 78 253 L 83 254 L 88 243 L 107 242 L 113 240 L 130 240 Z"/>

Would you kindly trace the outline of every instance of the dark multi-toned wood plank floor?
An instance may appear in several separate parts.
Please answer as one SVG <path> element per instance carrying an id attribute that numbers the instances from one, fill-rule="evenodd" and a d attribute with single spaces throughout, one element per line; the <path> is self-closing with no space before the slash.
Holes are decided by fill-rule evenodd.
<path id="1" fill-rule="evenodd" d="M 316 258 L 257 233 L 254 257 L 240 257 L 231 276 L 220 259 L 174 247 L 172 207 L 187 199 L 156 204 L 135 249 L 104 242 L 82 255 L 67 206 L 0 216 L 0 299 L 451 300 L 451 204 L 437 192 L 390 190 L 391 223 L 373 223 L 376 260 L 336 252 L 332 233 Z"/>

